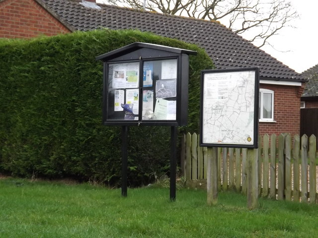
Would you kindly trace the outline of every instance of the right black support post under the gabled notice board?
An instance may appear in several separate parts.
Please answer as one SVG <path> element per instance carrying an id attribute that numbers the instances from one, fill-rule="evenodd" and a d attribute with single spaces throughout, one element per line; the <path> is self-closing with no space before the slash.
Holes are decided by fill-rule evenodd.
<path id="1" fill-rule="evenodd" d="M 170 201 L 175 201 L 177 127 L 171 126 Z"/>

